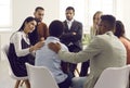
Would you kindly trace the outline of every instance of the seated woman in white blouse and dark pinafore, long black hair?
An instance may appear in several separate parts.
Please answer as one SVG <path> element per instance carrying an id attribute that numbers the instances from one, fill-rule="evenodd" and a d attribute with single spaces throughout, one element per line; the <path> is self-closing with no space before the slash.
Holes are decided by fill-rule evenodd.
<path id="1" fill-rule="evenodd" d="M 27 76 L 25 63 L 27 62 L 34 64 L 34 51 L 40 49 L 43 46 L 42 41 L 37 42 L 35 46 L 31 46 L 29 42 L 28 34 L 35 29 L 36 25 L 36 20 L 31 16 L 28 16 L 24 21 L 22 27 L 11 36 L 9 48 L 9 61 L 11 63 L 13 73 L 16 76 Z M 29 86 L 28 80 L 26 80 L 25 83 Z"/>

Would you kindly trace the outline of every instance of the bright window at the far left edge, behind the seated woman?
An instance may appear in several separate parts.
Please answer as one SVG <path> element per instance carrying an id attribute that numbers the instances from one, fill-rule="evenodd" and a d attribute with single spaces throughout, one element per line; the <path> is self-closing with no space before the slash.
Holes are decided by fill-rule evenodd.
<path id="1" fill-rule="evenodd" d="M 0 30 L 11 28 L 11 0 L 0 0 Z"/>

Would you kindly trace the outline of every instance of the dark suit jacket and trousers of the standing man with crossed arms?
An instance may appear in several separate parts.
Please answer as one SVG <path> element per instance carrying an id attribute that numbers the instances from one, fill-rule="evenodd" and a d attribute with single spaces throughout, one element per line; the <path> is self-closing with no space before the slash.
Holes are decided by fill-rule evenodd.
<path id="1" fill-rule="evenodd" d="M 61 36 L 61 41 L 65 43 L 68 47 L 68 50 L 70 52 L 79 52 L 82 50 L 81 45 L 81 37 L 82 37 L 82 24 L 78 21 L 73 22 L 70 29 L 68 29 L 67 22 L 64 21 L 64 33 Z M 73 33 L 76 33 L 76 35 L 73 35 Z M 62 70 L 64 73 L 74 73 L 76 68 L 76 64 L 72 64 L 68 62 L 62 62 Z"/>

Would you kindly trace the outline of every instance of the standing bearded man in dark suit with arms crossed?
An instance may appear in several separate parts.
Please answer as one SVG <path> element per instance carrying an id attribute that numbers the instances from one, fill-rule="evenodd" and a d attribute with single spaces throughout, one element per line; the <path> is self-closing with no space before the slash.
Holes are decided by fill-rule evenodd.
<path id="1" fill-rule="evenodd" d="M 79 52 L 82 50 L 81 37 L 82 37 L 82 24 L 74 20 L 75 9 L 68 7 L 66 9 L 66 20 L 63 22 L 65 25 L 64 34 L 61 36 L 61 41 L 68 47 L 70 52 Z M 74 71 L 77 64 L 63 62 L 63 71 L 74 77 Z"/>

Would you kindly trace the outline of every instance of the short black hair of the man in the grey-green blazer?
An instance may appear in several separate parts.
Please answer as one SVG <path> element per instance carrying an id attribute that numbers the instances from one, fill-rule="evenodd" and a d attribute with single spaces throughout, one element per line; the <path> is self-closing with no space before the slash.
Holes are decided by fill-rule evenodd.
<path id="1" fill-rule="evenodd" d="M 106 21 L 109 28 L 115 29 L 116 17 L 113 15 L 102 15 L 101 21 Z"/>

